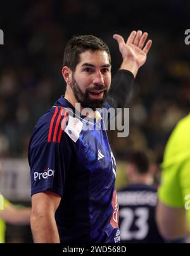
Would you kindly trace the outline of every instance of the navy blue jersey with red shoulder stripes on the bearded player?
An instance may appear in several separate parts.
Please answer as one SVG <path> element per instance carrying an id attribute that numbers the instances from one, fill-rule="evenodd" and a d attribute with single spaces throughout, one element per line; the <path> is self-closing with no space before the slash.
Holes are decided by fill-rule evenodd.
<path id="1" fill-rule="evenodd" d="M 61 196 L 56 223 L 62 243 L 117 243 L 116 165 L 103 119 L 89 121 L 99 130 L 83 130 L 86 120 L 71 110 L 62 96 L 35 126 L 28 151 L 32 194 Z"/>

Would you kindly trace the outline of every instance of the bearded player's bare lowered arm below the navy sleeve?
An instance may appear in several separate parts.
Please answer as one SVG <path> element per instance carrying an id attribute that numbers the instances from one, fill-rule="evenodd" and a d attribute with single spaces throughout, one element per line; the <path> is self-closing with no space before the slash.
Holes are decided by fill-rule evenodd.
<path id="1" fill-rule="evenodd" d="M 51 191 L 40 192 L 32 196 L 30 223 L 34 243 L 60 243 L 54 217 L 60 201 L 61 196 Z"/>

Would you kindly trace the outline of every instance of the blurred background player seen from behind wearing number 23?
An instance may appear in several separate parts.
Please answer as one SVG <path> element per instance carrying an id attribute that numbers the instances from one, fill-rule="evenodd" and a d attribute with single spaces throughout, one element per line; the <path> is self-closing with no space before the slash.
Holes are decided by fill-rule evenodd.
<path id="1" fill-rule="evenodd" d="M 149 161 L 143 152 L 126 155 L 129 185 L 118 191 L 119 224 L 123 243 L 163 243 L 155 220 L 157 192 Z"/>

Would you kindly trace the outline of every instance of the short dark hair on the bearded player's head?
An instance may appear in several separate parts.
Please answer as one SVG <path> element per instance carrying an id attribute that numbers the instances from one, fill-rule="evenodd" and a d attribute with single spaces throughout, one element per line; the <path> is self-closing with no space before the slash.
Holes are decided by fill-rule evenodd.
<path id="1" fill-rule="evenodd" d="M 70 67 L 75 71 L 75 67 L 80 62 L 80 53 L 84 51 L 106 51 L 108 53 L 109 61 L 111 63 L 110 50 L 102 39 L 92 35 L 73 36 L 66 44 L 63 66 Z"/>

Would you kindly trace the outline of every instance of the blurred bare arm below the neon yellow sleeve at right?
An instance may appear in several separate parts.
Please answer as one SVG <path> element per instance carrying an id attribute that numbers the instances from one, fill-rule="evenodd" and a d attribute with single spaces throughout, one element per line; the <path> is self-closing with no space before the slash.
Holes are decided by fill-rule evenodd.
<path id="1" fill-rule="evenodd" d="M 160 233 L 165 239 L 177 239 L 190 236 L 186 210 L 184 208 L 170 207 L 158 201 L 156 222 Z"/>

